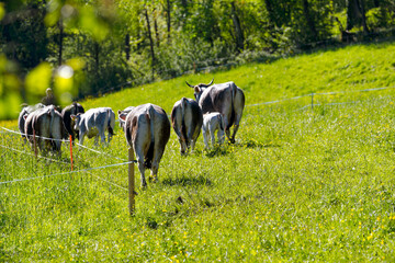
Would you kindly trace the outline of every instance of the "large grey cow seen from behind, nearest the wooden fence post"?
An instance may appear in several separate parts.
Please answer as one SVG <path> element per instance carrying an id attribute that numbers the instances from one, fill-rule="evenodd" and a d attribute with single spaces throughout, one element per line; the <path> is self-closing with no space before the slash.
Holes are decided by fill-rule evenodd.
<path id="1" fill-rule="evenodd" d="M 119 116 L 126 142 L 136 155 L 144 188 L 145 169 L 150 169 L 151 176 L 158 181 L 159 162 L 170 138 L 169 118 L 163 108 L 150 103 L 134 107 L 126 116 L 119 111 Z"/>

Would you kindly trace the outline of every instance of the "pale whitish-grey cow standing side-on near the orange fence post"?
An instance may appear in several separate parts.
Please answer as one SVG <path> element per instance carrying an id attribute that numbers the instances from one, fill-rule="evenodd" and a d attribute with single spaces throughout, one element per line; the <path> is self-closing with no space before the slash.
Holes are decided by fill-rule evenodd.
<path id="1" fill-rule="evenodd" d="M 108 144 L 114 135 L 115 113 L 111 107 L 95 107 L 90 108 L 86 113 L 71 114 L 71 119 L 75 121 L 75 129 L 79 132 L 79 144 L 83 145 L 83 137 L 88 138 L 94 136 L 94 144 L 98 145 L 99 136 L 101 142 L 105 144 L 105 134 L 109 132 Z"/>

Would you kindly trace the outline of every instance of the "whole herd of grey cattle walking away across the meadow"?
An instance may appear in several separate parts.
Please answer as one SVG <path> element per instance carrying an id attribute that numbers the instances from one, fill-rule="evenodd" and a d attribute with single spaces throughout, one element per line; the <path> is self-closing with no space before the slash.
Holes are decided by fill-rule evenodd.
<path id="1" fill-rule="evenodd" d="M 218 144 L 224 141 L 224 134 L 232 144 L 238 130 L 245 95 L 234 82 L 191 85 L 194 90 L 195 101 L 182 98 L 176 102 L 171 111 L 171 126 L 180 141 L 181 155 L 185 155 L 191 148 L 193 151 L 198 137 L 203 130 L 205 147 L 208 141 L 215 144 L 217 130 Z M 126 142 L 133 147 L 138 170 L 142 176 L 142 186 L 147 185 L 145 169 L 151 170 L 154 180 L 157 173 L 165 147 L 170 138 L 170 122 L 168 115 L 158 105 L 143 104 L 129 106 L 119 111 L 120 125 L 126 137 Z M 61 112 L 54 105 L 36 104 L 22 108 L 18 126 L 32 147 L 36 144 L 42 151 L 52 150 L 60 152 L 61 141 L 77 138 L 83 144 L 84 136 L 95 138 L 105 144 L 105 130 L 108 144 L 114 135 L 115 114 L 110 107 L 84 108 L 79 103 L 72 103 Z M 230 135 L 230 128 L 234 127 Z"/>

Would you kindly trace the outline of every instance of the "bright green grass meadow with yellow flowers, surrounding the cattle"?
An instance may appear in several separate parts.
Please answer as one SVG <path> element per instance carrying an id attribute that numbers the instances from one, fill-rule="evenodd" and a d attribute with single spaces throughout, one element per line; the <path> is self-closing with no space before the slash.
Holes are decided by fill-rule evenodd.
<path id="1" fill-rule="evenodd" d="M 181 157 L 171 132 L 159 182 L 137 188 L 134 217 L 127 165 L 59 174 L 70 171 L 67 146 L 57 161 L 36 160 L 1 129 L 0 181 L 32 179 L 0 184 L 1 261 L 394 262 L 394 61 L 392 43 L 356 45 L 81 102 L 114 111 L 151 102 L 169 114 L 193 98 L 185 80 L 245 90 L 236 144 L 205 151 L 200 136 Z M 0 126 L 16 130 L 15 121 Z M 86 140 L 105 155 L 75 148 L 75 170 L 126 161 L 115 133 L 109 147 Z"/>

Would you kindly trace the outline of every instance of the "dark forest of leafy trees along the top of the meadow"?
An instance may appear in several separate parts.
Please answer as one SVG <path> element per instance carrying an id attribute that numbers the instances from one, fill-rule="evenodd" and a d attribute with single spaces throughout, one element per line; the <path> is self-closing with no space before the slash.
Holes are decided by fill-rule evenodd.
<path id="1" fill-rule="evenodd" d="M 30 102 L 53 87 L 69 91 L 67 103 L 207 67 L 374 41 L 392 36 L 394 14 L 393 0 L 3 1 L 0 96 Z"/>

